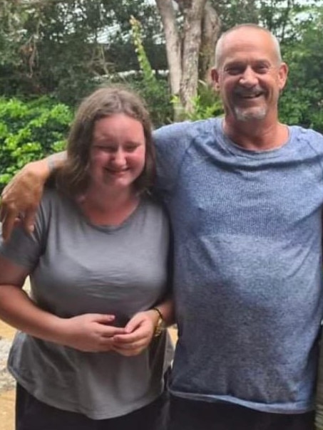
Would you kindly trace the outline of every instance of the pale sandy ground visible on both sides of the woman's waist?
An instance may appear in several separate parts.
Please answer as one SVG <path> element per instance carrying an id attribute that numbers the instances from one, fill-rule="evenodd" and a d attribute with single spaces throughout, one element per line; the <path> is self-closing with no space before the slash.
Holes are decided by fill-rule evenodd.
<path id="1" fill-rule="evenodd" d="M 176 342 L 175 329 L 170 329 L 170 335 Z M 0 430 L 14 430 L 15 382 L 6 371 L 6 359 L 13 337 L 14 329 L 0 320 Z"/>

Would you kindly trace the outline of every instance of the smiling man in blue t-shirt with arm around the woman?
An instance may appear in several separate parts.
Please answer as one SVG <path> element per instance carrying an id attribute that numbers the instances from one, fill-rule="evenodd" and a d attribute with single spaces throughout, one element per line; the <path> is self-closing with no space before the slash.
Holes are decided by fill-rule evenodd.
<path id="1" fill-rule="evenodd" d="M 279 122 L 287 65 L 264 28 L 224 33 L 212 79 L 224 118 L 155 132 L 157 189 L 175 235 L 169 429 L 311 430 L 323 137 Z M 4 194 L 14 209 L 5 227 L 36 205 L 18 203 L 18 188 L 47 176 L 46 162 L 21 172 Z"/>

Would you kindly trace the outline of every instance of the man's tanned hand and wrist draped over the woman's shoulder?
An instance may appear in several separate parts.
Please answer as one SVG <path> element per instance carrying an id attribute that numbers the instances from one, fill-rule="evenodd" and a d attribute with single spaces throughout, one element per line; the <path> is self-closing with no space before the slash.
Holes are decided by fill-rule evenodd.
<path id="1" fill-rule="evenodd" d="M 30 162 L 6 185 L 0 200 L 2 236 L 7 241 L 16 222 L 21 221 L 29 233 L 34 230 L 35 215 L 43 187 L 56 169 L 66 160 L 66 152 Z"/>

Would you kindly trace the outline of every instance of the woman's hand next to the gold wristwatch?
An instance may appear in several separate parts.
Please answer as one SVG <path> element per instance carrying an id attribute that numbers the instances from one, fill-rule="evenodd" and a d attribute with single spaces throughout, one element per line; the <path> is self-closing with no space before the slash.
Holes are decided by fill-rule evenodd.
<path id="1" fill-rule="evenodd" d="M 113 337 L 113 350 L 126 357 L 140 354 L 150 344 L 157 322 L 155 310 L 136 313 L 125 326 L 125 333 Z"/>

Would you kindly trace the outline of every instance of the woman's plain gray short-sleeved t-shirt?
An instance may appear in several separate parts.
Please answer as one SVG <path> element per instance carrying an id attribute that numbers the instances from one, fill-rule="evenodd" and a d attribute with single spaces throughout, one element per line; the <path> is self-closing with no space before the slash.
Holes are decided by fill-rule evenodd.
<path id="1" fill-rule="evenodd" d="M 125 323 L 151 308 L 168 288 L 168 220 L 143 198 L 121 226 L 95 226 L 78 206 L 45 192 L 34 234 L 15 229 L 0 252 L 31 271 L 31 297 L 62 318 L 111 313 Z M 135 357 L 87 353 L 18 332 L 9 371 L 37 399 L 107 419 L 152 402 L 163 390 L 165 335 Z"/>

